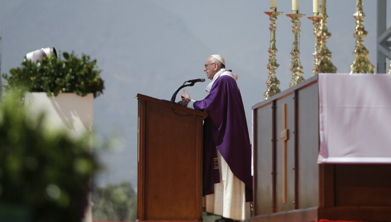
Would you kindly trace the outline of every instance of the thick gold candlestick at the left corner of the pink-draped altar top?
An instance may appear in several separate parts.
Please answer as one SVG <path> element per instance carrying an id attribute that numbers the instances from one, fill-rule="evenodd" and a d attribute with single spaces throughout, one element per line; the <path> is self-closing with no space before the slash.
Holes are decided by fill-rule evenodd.
<path id="1" fill-rule="evenodd" d="M 320 5 L 319 13 L 319 29 L 317 37 L 319 38 L 319 48 L 318 54 L 319 64 L 318 64 L 318 73 L 336 73 L 337 68 L 330 61 L 331 52 L 326 46 L 326 40 L 330 38 L 331 34 L 328 32 L 327 20 L 328 16 L 326 13 L 326 0 L 322 0 Z"/>

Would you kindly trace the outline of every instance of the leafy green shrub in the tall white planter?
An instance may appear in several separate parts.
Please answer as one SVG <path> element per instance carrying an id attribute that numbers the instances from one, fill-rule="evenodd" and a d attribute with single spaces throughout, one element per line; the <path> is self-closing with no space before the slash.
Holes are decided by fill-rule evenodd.
<path id="1" fill-rule="evenodd" d="M 99 76 L 96 59 L 82 54 L 78 58 L 74 53 L 64 52 L 64 59 L 54 55 L 35 62 L 24 59 L 21 67 L 10 70 L 10 75 L 3 74 L 8 83 L 6 91 L 18 88 L 29 92 L 47 92 L 57 96 L 61 92 L 74 92 L 79 96 L 93 93 L 94 98 L 103 93 L 104 81 Z"/>

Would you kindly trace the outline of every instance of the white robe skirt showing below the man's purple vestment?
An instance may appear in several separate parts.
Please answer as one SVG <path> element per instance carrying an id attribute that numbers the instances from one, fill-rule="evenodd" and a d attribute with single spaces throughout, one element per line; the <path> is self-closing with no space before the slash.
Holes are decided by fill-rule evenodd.
<path id="1" fill-rule="evenodd" d="M 234 220 L 250 219 L 250 203 L 246 202 L 245 185 L 231 171 L 217 149 L 220 183 L 214 194 L 205 196 L 205 211 Z"/>

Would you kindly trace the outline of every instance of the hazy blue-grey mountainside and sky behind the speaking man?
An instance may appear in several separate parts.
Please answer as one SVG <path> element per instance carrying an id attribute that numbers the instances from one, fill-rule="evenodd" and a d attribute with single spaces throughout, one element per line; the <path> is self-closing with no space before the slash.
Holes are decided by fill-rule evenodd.
<path id="1" fill-rule="evenodd" d="M 376 66 L 377 4 L 362 2 L 369 33 L 364 45 Z M 349 73 L 354 60 L 355 3 L 327 1 L 327 47 L 338 73 Z M 291 80 L 292 23 L 285 15 L 291 1 L 278 0 L 277 7 L 284 14 L 276 21 L 276 77 L 285 90 Z M 300 0 L 299 7 L 305 14 L 300 58 L 306 79 L 314 63 L 314 27 L 306 18 L 312 16 L 312 1 Z M 222 54 L 227 68 L 239 75 L 252 134 L 252 105 L 263 100 L 268 77 L 270 21 L 264 12 L 269 10 L 269 1 L 255 0 L 0 0 L 1 72 L 9 73 L 27 52 L 44 47 L 55 47 L 59 55 L 66 51 L 97 59 L 105 90 L 94 101 L 94 131 L 112 137 L 116 148 L 100 153 L 106 169 L 96 182 L 130 181 L 136 187 L 136 94 L 170 100 L 184 81 L 206 78 L 204 61 L 211 54 Z M 386 19 L 388 27 L 389 15 Z M 192 99 L 206 96 L 208 81 L 186 88 Z"/>

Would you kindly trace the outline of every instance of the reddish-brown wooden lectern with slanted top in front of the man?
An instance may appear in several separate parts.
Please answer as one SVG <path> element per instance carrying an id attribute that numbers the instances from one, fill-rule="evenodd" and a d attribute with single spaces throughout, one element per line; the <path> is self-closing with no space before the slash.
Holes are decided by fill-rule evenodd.
<path id="1" fill-rule="evenodd" d="M 202 221 L 206 112 L 137 94 L 137 220 Z"/>

